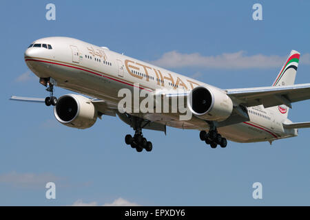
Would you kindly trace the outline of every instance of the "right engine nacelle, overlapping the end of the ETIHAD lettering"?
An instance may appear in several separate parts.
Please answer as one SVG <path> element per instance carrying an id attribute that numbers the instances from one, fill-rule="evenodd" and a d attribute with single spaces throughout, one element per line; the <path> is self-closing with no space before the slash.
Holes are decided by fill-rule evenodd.
<path id="1" fill-rule="evenodd" d="M 233 102 L 220 89 L 195 87 L 187 98 L 187 106 L 196 117 L 203 120 L 223 121 L 233 110 Z"/>

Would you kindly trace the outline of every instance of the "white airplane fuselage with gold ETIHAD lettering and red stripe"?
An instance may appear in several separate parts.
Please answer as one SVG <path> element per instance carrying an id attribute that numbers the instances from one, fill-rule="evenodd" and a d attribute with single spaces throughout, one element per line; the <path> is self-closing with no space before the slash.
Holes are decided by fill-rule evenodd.
<path id="1" fill-rule="evenodd" d="M 57 86 L 87 96 L 118 103 L 118 90 L 155 89 L 189 92 L 199 85 L 212 87 L 187 76 L 118 54 L 107 47 L 98 47 L 67 37 L 49 37 L 34 43 L 52 45 L 52 50 L 30 47 L 25 62 L 39 78 L 52 77 Z M 297 135 L 297 129 L 283 129 L 287 118 L 274 109 L 262 106 L 247 109 L 249 121 L 218 128 L 218 132 L 234 142 L 273 141 Z M 208 130 L 209 125 L 199 118 L 180 121 L 172 113 L 140 113 L 140 117 L 180 129 Z"/>

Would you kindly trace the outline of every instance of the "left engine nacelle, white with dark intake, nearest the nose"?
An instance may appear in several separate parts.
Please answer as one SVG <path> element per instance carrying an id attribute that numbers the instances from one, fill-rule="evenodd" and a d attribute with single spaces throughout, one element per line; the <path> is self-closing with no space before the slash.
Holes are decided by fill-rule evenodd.
<path id="1" fill-rule="evenodd" d="M 76 129 L 87 129 L 94 125 L 98 114 L 89 98 L 68 94 L 58 99 L 54 115 L 61 124 Z"/>

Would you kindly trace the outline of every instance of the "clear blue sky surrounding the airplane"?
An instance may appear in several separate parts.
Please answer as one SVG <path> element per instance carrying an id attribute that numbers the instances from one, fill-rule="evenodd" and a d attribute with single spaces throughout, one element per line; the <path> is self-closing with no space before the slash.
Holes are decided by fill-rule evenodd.
<path id="1" fill-rule="evenodd" d="M 56 21 L 45 5 L 56 5 Z M 252 5 L 262 4 L 262 21 Z M 291 50 L 300 60 L 296 83 L 310 83 L 309 1 L 1 1 L 0 205 L 97 205 L 123 198 L 143 206 L 310 205 L 310 129 L 287 140 L 254 144 L 229 142 L 211 149 L 198 131 L 144 131 L 152 153 L 124 143 L 132 129 L 118 118 L 98 120 L 79 131 L 56 122 L 44 104 L 9 101 L 11 95 L 45 97 L 28 72 L 23 52 L 35 39 L 70 36 L 143 61 L 169 52 L 220 56 L 261 54 L 253 67 L 171 65 L 220 88 L 273 83 Z M 308 59 L 307 59 L 308 58 Z M 251 59 L 250 59 L 251 61 Z M 263 60 L 264 61 L 264 60 Z M 68 91 L 56 88 L 56 96 Z M 289 118 L 309 121 L 310 102 L 293 104 Z M 45 199 L 54 181 L 56 199 Z M 252 198 L 262 183 L 263 199 Z"/>

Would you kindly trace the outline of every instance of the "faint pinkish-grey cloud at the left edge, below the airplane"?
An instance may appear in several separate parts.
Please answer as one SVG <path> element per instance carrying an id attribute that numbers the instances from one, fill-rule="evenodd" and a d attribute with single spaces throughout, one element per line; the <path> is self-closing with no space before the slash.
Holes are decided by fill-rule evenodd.
<path id="1" fill-rule="evenodd" d="M 0 175 L 0 183 L 21 188 L 44 188 L 45 184 L 59 180 L 50 173 L 17 173 L 15 171 Z"/>

